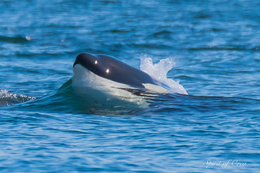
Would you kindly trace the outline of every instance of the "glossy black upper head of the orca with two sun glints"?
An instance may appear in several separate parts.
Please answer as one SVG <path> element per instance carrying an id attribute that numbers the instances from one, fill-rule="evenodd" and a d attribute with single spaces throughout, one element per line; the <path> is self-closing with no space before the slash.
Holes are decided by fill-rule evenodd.
<path id="1" fill-rule="evenodd" d="M 147 73 L 112 56 L 81 53 L 75 59 L 73 69 L 76 64 L 81 64 L 92 73 L 118 83 L 141 88 L 144 88 L 143 83 L 156 85 L 155 81 Z"/>

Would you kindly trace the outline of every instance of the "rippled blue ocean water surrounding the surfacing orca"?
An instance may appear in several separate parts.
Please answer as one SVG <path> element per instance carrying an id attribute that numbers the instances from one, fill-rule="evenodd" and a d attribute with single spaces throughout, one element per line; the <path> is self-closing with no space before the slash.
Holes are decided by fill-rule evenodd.
<path id="1" fill-rule="evenodd" d="M 0 1 L 0 172 L 259 172 L 259 40 L 259 1 Z M 188 95 L 79 97 L 81 52 L 171 58 Z"/>

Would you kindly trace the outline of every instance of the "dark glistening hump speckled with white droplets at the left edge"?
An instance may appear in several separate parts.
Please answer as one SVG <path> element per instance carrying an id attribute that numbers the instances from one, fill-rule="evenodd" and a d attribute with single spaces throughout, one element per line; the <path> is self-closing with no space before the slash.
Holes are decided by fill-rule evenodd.
<path id="1" fill-rule="evenodd" d="M 0 90 L 0 107 L 26 102 L 36 97 L 13 94 L 7 90 Z"/>

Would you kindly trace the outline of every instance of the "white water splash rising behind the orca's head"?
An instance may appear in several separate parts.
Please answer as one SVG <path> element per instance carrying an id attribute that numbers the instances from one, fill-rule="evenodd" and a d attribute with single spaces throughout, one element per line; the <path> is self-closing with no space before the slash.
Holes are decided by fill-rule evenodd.
<path id="1" fill-rule="evenodd" d="M 169 90 L 174 93 L 188 94 L 184 87 L 179 82 L 174 81 L 171 78 L 167 78 L 167 73 L 176 64 L 174 58 L 165 58 L 160 60 L 157 64 L 153 64 L 153 59 L 146 55 L 140 56 L 140 70 L 144 71 L 159 82 L 165 83 L 169 86 Z"/>

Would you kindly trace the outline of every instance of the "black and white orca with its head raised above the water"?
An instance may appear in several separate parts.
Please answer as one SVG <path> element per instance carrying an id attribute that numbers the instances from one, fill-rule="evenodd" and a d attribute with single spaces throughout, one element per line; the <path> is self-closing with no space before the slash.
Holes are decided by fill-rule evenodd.
<path id="1" fill-rule="evenodd" d="M 81 95 L 86 92 L 88 96 L 106 93 L 120 98 L 171 92 L 167 84 L 154 79 L 144 71 L 112 56 L 88 53 L 81 53 L 75 59 L 72 86 Z M 101 93 L 95 94 L 91 91 L 93 89 Z"/>

